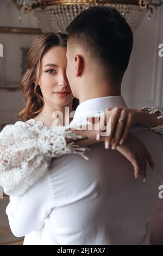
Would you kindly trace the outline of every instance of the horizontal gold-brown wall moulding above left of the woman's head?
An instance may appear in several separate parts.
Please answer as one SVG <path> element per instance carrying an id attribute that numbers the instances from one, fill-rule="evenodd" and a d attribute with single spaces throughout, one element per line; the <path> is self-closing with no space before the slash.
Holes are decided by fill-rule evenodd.
<path id="1" fill-rule="evenodd" d="M 0 27 L 0 33 L 12 34 L 42 34 L 40 28 L 21 28 L 21 27 Z"/>

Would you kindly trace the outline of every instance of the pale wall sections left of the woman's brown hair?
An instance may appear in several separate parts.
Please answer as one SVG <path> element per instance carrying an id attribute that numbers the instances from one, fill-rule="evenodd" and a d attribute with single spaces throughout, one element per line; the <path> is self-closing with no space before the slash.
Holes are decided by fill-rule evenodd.
<path id="1" fill-rule="evenodd" d="M 32 14 L 20 12 L 10 0 L 0 0 L 1 27 L 37 28 Z M 0 87 L 18 86 L 21 77 L 21 47 L 30 47 L 38 35 L 0 33 L 0 44 L 3 44 L 4 57 L 0 57 Z M 14 123 L 17 113 L 23 108 L 24 102 L 20 92 L 2 92 L 0 90 L 0 124 Z"/>

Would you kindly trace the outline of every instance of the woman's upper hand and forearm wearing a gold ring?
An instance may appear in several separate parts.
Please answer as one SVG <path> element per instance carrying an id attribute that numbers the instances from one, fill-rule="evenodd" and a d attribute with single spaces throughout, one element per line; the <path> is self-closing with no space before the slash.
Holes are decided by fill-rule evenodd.
<path id="1" fill-rule="evenodd" d="M 109 120 L 107 114 L 110 112 Z M 156 127 L 163 124 L 162 119 L 158 119 L 158 114 L 149 114 L 147 111 L 130 108 L 106 108 L 103 117 L 100 120 L 97 140 L 101 138 L 103 126 L 110 127 L 110 135 L 105 136 L 105 148 L 116 149 L 127 139 L 131 126 L 139 124 L 146 127 Z M 111 123 L 111 124 L 110 124 Z"/>

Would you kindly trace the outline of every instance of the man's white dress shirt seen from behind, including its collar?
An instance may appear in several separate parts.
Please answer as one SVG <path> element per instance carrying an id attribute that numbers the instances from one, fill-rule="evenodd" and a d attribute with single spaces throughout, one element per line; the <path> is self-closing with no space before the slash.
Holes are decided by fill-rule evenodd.
<path id="1" fill-rule="evenodd" d="M 81 103 L 74 123 L 88 111 L 126 107 L 122 96 Z M 133 166 L 104 143 L 91 145 L 89 161 L 66 155 L 52 161 L 46 176 L 21 197 L 10 197 L 12 233 L 24 245 L 148 245 L 148 219 L 162 179 L 163 145 L 151 130 L 135 131 L 152 154 L 155 171 L 134 179 Z"/>

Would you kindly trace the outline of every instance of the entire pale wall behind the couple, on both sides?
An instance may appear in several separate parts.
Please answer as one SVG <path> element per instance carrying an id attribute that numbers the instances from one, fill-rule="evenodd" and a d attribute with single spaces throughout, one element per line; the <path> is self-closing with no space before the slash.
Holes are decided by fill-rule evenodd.
<path id="1" fill-rule="evenodd" d="M 0 1 L 0 26 L 37 27 L 32 15 L 23 15 L 5 8 Z M 122 94 L 129 107 L 163 106 L 163 57 L 158 56 L 158 46 L 163 43 L 163 9 L 158 11 L 158 19 L 149 21 L 147 16 L 135 32 L 134 49 L 129 68 L 122 84 Z M 29 46 L 35 35 L 0 34 L 0 43 L 4 45 L 4 57 L 0 57 L 0 86 L 18 84 L 20 78 L 20 47 Z M 12 56 L 12 58 L 11 58 Z M 9 68 L 10 67 L 10 68 Z M 0 123 L 14 123 L 18 111 L 23 107 L 22 96 L 18 92 L 0 91 Z"/>

